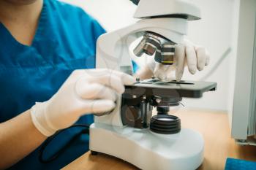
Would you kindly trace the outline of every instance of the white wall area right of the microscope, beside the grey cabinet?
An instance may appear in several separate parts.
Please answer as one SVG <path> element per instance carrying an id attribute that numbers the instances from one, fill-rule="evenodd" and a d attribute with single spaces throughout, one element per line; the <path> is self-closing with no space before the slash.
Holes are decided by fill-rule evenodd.
<path id="1" fill-rule="evenodd" d="M 189 39 L 207 47 L 211 53 L 211 63 L 203 72 L 197 72 L 195 76 L 186 74 L 185 79 L 200 79 L 211 70 L 221 55 L 230 47 L 233 1 L 232 0 L 190 0 L 197 4 L 202 11 L 202 20 L 189 24 Z M 187 99 L 188 107 L 200 107 L 203 109 L 227 110 L 229 93 L 229 67 L 231 55 L 226 58 L 219 68 L 208 77 L 206 81 L 218 83 L 217 91 L 205 93 L 200 100 Z"/>

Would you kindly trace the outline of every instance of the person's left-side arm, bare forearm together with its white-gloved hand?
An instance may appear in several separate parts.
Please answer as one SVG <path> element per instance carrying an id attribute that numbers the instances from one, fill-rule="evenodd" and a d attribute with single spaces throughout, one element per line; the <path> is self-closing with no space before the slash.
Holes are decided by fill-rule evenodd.
<path id="1" fill-rule="evenodd" d="M 116 93 L 133 83 L 132 76 L 110 69 L 75 70 L 48 101 L 0 123 L 0 169 L 17 163 L 80 116 L 110 112 L 116 107 Z"/>

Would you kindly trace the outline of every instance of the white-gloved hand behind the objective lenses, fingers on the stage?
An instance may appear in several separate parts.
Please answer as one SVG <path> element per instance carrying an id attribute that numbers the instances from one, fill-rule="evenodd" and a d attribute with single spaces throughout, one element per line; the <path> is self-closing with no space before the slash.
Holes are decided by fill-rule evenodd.
<path id="1" fill-rule="evenodd" d="M 185 39 L 184 44 L 176 45 L 173 65 L 163 65 L 154 61 L 154 58 L 151 58 L 148 62 L 148 68 L 160 80 L 180 81 L 186 65 L 189 72 L 195 74 L 197 70 L 202 71 L 209 61 L 209 53 L 204 47 L 194 45 Z"/>

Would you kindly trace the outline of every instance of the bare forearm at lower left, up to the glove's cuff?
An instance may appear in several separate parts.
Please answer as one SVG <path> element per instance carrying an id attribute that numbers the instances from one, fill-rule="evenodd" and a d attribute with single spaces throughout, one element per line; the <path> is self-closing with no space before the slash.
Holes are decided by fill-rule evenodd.
<path id="1" fill-rule="evenodd" d="M 29 155 L 46 138 L 34 127 L 29 110 L 0 123 L 0 169 L 7 169 Z"/>

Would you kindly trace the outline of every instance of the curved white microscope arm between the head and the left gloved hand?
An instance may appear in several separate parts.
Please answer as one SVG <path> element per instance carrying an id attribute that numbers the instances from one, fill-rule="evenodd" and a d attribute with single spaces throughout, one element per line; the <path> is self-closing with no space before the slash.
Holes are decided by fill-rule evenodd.
<path id="1" fill-rule="evenodd" d="M 152 24 L 154 23 L 154 24 Z M 151 31 L 173 42 L 183 42 L 187 34 L 187 20 L 182 18 L 154 18 L 139 20 L 132 26 L 99 36 L 97 40 L 97 68 L 132 73 L 129 45 L 145 31 Z"/>

